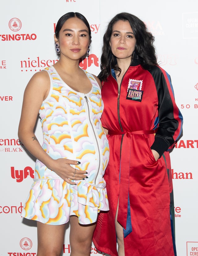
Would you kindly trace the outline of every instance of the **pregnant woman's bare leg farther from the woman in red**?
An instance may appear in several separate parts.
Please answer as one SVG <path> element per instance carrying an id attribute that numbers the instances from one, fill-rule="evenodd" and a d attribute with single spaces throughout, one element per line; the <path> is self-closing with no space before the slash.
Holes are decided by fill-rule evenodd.
<path id="1" fill-rule="evenodd" d="M 60 256 L 64 243 L 65 224 L 48 225 L 37 221 L 37 256 Z"/>

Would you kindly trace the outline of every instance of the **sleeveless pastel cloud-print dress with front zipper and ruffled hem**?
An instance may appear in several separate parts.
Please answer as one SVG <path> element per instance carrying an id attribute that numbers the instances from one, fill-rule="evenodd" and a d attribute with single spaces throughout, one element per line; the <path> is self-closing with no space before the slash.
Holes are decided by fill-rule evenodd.
<path id="1" fill-rule="evenodd" d="M 35 178 L 21 215 L 51 225 L 78 216 L 80 224 L 94 223 L 100 210 L 109 210 L 103 175 L 109 161 L 109 145 L 101 125 L 101 89 L 93 75 L 89 93 L 71 89 L 53 66 L 45 68 L 51 87 L 39 114 L 43 129 L 43 150 L 53 159 L 79 161 L 73 166 L 87 171 L 88 178 L 71 185 L 37 159 Z"/>

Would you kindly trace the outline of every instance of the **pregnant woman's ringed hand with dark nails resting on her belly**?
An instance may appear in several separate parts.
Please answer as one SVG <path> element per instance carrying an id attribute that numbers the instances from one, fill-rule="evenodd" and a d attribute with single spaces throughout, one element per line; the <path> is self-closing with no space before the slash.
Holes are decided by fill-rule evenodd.
<path id="1" fill-rule="evenodd" d="M 71 167 L 71 165 L 78 165 L 80 162 L 70 160 L 67 158 L 52 159 L 52 162 L 48 165 L 48 168 L 54 171 L 58 176 L 65 180 L 69 184 L 76 184 L 71 180 L 82 180 L 86 178 L 86 171 L 80 171 Z M 75 175 L 74 175 L 75 174 Z"/>

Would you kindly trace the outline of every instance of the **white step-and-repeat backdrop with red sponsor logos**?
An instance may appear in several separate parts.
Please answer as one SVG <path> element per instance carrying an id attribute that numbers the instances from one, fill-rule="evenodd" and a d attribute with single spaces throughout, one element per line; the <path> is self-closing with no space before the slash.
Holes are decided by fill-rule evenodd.
<path id="1" fill-rule="evenodd" d="M 158 61 L 172 78 L 184 117 L 183 137 L 170 154 L 177 252 L 178 256 L 198 255 L 198 2 L 6 0 L 0 6 L 0 255 L 36 256 L 36 224 L 20 217 L 35 159 L 19 141 L 17 129 L 25 86 L 35 72 L 57 61 L 54 29 L 69 11 L 80 12 L 89 21 L 91 54 L 80 66 L 96 75 L 105 28 L 118 12 L 138 16 L 155 36 Z M 36 134 L 42 141 L 39 122 Z M 65 256 L 70 255 L 68 234 L 69 227 Z M 93 245 L 91 255 L 95 254 L 101 255 Z"/>

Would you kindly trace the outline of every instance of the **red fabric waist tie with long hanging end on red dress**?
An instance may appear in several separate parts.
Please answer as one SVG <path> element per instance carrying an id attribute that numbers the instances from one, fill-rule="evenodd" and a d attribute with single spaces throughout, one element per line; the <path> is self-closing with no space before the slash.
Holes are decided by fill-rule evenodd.
<path id="1" fill-rule="evenodd" d="M 155 130 L 141 130 L 133 132 L 121 132 L 109 130 L 111 135 L 124 135 L 122 142 L 122 153 L 120 159 L 120 189 L 119 189 L 119 206 L 117 220 L 123 227 L 124 237 L 132 232 L 131 210 L 129 201 L 129 175 L 131 159 L 131 135 L 133 134 L 154 134 Z"/>

